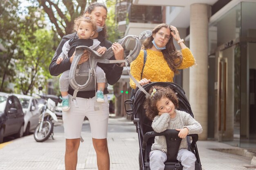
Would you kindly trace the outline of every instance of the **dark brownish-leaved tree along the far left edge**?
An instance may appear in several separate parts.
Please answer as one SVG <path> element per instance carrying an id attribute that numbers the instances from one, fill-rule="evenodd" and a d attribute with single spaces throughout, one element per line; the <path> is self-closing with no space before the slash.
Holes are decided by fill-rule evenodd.
<path id="1" fill-rule="evenodd" d="M 18 48 L 18 43 L 20 41 L 18 27 L 20 23 L 20 14 L 17 11 L 20 2 L 18 0 L 13 0 L 12 3 L 4 1 L 0 4 L 0 44 L 2 45 L 2 50 L 0 50 L 0 92 L 6 91 L 8 83 L 13 81 L 13 76 L 15 75 L 15 63 L 14 59 L 18 59 L 22 51 Z"/>

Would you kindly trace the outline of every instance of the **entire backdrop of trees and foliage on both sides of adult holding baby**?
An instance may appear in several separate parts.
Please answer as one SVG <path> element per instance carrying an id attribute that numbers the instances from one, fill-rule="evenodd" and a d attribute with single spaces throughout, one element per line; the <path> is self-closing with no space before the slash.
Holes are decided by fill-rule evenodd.
<path id="1" fill-rule="evenodd" d="M 52 78 L 49 63 L 60 37 L 72 33 L 74 18 L 94 1 L 97 0 L 27 0 L 27 7 L 21 5 L 24 0 L 1 1 L 0 91 L 12 92 L 13 86 L 16 93 L 32 94 L 38 86 L 46 87 Z M 115 42 L 119 35 L 115 0 L 108 0 L 107 7 L 108 39 Z M 58 77 L 55 78 L 54 94 L 58 94 Z"/>

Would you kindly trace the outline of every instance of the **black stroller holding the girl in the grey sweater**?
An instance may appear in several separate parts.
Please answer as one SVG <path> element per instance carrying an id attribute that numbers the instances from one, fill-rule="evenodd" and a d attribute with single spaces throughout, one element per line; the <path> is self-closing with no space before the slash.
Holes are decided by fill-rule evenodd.
<path id="1" fill-rule="evenodd" d="M 161 86 L 170 86 L 174 92 L 177 93 L 177 97 L 179 100 L 179 108 L 177 110 L 182 110 L 184 112 L 189 113 L 192 117 L 193 113 L 191 111 L 190 104 L 185 96 L 185 92 L 175 83 L 166 83 L 166 82 L 155 82 L 149 83 L 143 86 L 143 88 L 148 92 L 148 90 L 153 85 L 161 85 Z M 167 161 L 164 163 L 164 170 L 182 170 L 183 167 L 179 161 L 177 161 L 177 153 L 180 148 L 181 138 L 178 137 L 178 131 L 176 130 L 165 130 L 161 133 L 156 133 L 153 131 L 150 121 L 145 114 L 145 109 L 143 107 L 143 103 L 145 100 L 145 94 L 137 87 L 135 89 L 135 96 L 131 99 L 126 100 L 125 108 L 126 114 L 131 115 L 131 119 L 133 123 L 136 125 L 136 130 L 139 137 L 139 167 L 140 170 L 150 170 L 149 168 L 149 153 L 151 151 L 151 146 L 154 143 L 155 136 L 166 137 L 167 144 Z M 132 109 L 128 109 L 132 106 Z M 192 142 L 190 141 L 190 136 L 192 138 Z M 187 136 L 188 141 L 188 149 L 195 154 L 197 161 L 195 162 L 195 170 L 202 170 L 198 149 L 196 146 L 196 141 L 198 141 L 198 134 L 191 134 Z"/>

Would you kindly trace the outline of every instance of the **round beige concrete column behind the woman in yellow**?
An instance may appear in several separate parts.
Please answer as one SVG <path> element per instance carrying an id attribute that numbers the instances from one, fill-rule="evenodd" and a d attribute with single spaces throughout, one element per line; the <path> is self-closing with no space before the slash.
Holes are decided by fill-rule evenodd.
<path id="1" fill-rule="evenodd" d="M 194 118 L 202 125 L 200 140 L 207 140 L 208 108 L 208 22 L 209 5 L 190 6 L 190 49 L 197 65 L 189 70 L 189 103 Z"/>

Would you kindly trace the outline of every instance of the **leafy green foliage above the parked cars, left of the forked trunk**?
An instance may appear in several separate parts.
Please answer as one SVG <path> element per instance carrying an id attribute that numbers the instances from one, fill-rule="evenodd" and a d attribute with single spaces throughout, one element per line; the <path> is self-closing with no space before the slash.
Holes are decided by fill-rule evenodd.
<path id="1" fill-rule="evenodd" d="M 32 94 L 50 77 L 48 67 L 56 36 L 45 29 L 44 12 L 37 7 L 20 8 L 20 2 L 0 4 L 0 91 Z"/>

